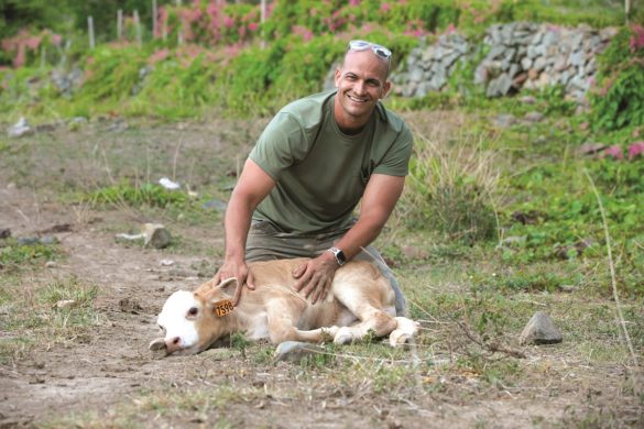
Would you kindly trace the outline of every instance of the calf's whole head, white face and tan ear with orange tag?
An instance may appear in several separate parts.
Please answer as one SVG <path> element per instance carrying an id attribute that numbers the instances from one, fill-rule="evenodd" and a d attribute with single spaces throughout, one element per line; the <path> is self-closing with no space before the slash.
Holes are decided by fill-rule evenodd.
<path id="1" fill-rule="evenodd" d="M 209 349 L 218 339 L 229 333 L 232 312 L 232 294 L 236 278 L 218 285 L 205 283 L 194 293 L 175 292 L 167 298 L 159 315 L 157 323 L 164 332 L 150 343 L 150 350 L 165 354 L 195 354 Z"/>

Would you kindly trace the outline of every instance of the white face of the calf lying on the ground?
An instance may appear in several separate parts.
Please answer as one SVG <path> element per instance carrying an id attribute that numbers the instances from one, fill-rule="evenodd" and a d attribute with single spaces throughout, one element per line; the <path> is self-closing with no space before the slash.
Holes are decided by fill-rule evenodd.
<path id="1" fill-rule="evenodd" d="M 193 354 L 198 351 L 195 350 L 199 344 L 199 333 L 195 322 L 203 307 L 195 294 L 190 292 L 178 290 L 167 298 L 157 320 L 159 327 L 165 331 L 163 341 L 167 354 Z"/>

